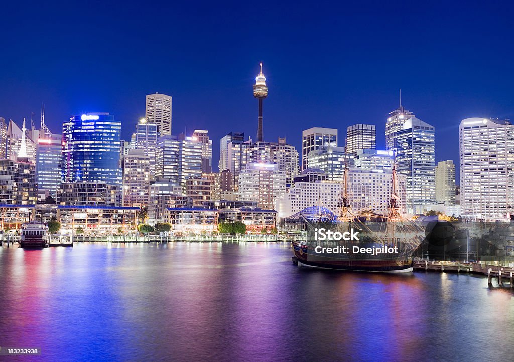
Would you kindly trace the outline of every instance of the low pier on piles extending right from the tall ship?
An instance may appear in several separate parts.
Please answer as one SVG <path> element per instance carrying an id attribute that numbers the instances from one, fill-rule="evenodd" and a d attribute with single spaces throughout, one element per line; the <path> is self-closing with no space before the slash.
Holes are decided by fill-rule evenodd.
<path id="1" fill-rule="evenodd" d="M 493 285 L 493 279 L 500 287 L 514 289 L 514 268 L 505 265 L 486 263 L 459 263 L 450 261 L 418 260 L 414 263 L 415 272 L 440 272 L 440 273 L 470 273 L 487 275 L 488 283 Z"/>

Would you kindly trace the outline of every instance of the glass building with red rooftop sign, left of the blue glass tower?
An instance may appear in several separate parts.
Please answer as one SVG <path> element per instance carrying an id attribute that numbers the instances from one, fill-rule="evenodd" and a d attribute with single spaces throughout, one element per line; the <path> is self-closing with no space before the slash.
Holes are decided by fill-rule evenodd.
<path id="1" fill-rule="evenodd" d="M 38 139 L 36 146 L 35 178 L 38 194 L 45 195 L 45 198 L 55 198 L 61 184 L 61 141 L 61 135 L 50 135 Z"/>

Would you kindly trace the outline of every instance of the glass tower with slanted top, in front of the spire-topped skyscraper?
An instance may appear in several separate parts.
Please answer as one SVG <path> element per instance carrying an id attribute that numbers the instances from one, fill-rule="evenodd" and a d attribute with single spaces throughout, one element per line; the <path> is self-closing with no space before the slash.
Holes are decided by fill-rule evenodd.
<path id="1" fill-rule="evenodd" d="M 434 127 L 414 116 L 396 132 L 398 175 L 406 177 L 410 213 L 422 213 L 435 204 L 434 136 Z"/>

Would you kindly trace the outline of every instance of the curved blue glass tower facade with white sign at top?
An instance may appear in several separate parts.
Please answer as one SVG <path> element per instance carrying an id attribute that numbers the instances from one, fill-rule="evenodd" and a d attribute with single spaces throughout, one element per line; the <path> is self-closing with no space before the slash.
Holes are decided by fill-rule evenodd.
<path id="1" fill-rule="evenodd" d="M 109 113 L 71 116 L 63 123 L 62 182 L 121 186 L 121 122 Z"/>

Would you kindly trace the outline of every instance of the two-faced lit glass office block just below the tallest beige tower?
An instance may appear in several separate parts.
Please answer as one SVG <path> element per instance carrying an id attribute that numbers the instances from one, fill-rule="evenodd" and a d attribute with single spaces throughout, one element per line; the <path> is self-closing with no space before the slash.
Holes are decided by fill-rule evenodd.
<path id="1" fill-rule="evenodd" d="M 155 178 L 182 186 L 186 193 L 186 181 L 201 178 L 202 144 L 186 137 L 162 136 L 155 154 Z"/>

